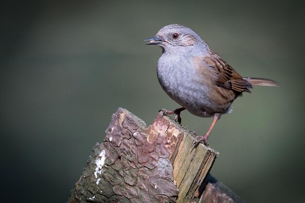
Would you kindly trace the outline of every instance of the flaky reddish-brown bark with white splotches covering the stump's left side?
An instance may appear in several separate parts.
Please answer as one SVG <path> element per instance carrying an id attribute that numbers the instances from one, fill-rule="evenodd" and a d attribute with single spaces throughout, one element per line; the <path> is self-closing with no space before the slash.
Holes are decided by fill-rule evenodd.
<path id="1" fill-rule="evenodd" d="M 147 129 L 142 120 L 119 108 L 106 129 L 105 140 L 95 145 L 68 202 L 175 202 L 178 189 L 169 157 L 178 134 L 166 133 L 169 127 L 163 121 Z"/>

